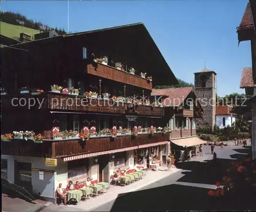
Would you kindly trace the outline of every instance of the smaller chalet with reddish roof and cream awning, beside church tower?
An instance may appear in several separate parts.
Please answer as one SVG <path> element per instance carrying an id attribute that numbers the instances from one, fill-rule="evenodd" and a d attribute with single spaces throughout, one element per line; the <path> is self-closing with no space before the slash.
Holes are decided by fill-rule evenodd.
<path id="1" fill-rule="evenodd" d="M 151 95 L 164 106 L 164 121 L 172 130 L 172 150 L 206 143 L 196 134 L 196 119 L 202 118 L 203 109 L 194 88 L 153 89 Z"/>

